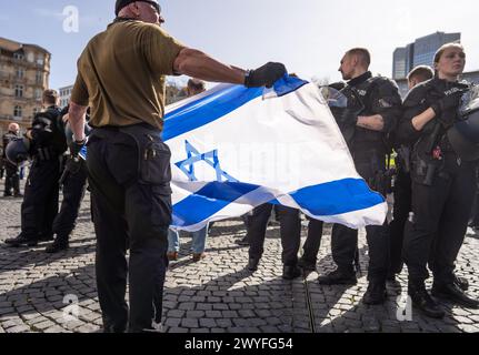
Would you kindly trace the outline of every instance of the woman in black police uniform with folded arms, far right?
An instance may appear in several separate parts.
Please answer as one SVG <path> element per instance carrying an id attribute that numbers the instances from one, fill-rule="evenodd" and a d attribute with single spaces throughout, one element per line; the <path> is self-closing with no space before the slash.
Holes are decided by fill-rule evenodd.
<path id="1" fill-rule="evenodd" d="M 476 192 L 475 161 L 465 161 L 448 132 L 459 120 L 460 98 L 469 89 L 458 82 L 466 64 L 462 45 L 449 43 L 435 57 L 435 79 L 417 85 L 405 100 L 398 135 L 413 144 L 412 213 L 405 231 L 403 257 L 409 271 L 408 293 L 426 315 L 445 313 L 429 295 L 427 263 L 433 274 L 432 295 L 478 307 L 456 281 L 453 271 L 462 245 Z"/>

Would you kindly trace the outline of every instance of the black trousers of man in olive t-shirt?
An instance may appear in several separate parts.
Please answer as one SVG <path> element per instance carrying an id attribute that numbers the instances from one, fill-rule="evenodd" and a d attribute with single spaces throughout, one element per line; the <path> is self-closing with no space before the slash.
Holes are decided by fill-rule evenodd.
<path id="1" fill-rule="evenodd" d="M 96 129 L 88 144 L 98 296 L 110 332 L 123 332 L 128 322 L 130 332 L 152 329 L 162 315 L 171 189 L 143 181 L 139 150 L 131 136 L 108 129 Z M 169 169 L 169 156 L 162 164 Z"/>

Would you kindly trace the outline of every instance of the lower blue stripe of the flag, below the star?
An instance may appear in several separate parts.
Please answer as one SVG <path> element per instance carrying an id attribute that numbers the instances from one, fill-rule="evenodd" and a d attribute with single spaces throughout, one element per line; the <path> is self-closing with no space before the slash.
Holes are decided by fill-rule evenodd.
<path id="1" fill-rule="evenodd" d="M 173 225 L 188 226 L 198 224 L 211 217 L 231 202 L 259 187 L 257 185 L 229 182 L 207 184 L 203 189 L 173 206 Z M 265 191 L 262 191 L 262 195 L 263 193 Z M 305 187 L 292 192 L 290 196 L 298 205 L 317 216 L 345 214 L 369 209 L 385 202 L 381 194 L 371 191 L 366 182 L 360 179 L 345 179 Z M 249 200 L 251 200 L 251 204 L 256 205 L 253 199 L 255 194 Z M 272 200 L 271 203 L 278 204 L 278 201 Z"/>

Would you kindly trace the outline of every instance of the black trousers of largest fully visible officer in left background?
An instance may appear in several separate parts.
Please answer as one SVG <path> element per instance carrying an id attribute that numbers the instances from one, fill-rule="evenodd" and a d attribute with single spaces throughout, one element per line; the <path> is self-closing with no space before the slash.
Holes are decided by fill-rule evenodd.
<path id="1" fill-rule="evenodd" d="M 31 240 L 51 237 L 58 213 L 60 159 L 33 159 L 21 204 L 21 233 Z"/>

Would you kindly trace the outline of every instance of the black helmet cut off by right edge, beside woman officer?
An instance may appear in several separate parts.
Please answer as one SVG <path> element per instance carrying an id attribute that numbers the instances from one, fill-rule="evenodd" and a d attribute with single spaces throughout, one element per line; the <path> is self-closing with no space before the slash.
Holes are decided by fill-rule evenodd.
<path id="1" fill-rule="evenodd" d="M 461 160 L 479 160 L 479 87 L 462 95 L 459 118 L 448 131 L 449 142 Z"/>

